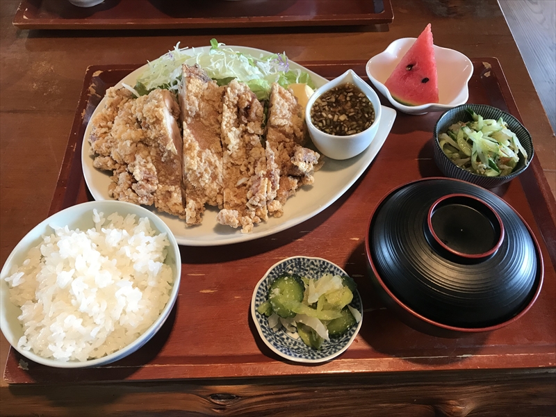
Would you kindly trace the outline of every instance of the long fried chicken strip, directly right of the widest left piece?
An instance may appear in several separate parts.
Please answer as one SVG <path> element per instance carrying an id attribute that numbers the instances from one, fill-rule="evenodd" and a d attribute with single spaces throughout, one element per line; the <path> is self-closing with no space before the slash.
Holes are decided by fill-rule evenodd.
<path id="1" fill-rule="evenodd" d="M 186 224 L 202 221 L 205 204 L 222 208 L 222 94 L 198 66 L 183 65 L 179 104 L 183 122 Z"/>

